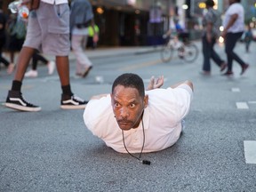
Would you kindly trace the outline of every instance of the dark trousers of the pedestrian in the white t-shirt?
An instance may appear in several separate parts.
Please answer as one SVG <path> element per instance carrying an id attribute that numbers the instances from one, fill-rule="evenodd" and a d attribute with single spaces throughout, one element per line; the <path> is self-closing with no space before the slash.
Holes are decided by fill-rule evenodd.
<path id="1" fill-rule="evenodd" d="M 232 71 L 232 65 L 233 60 L 236 60 L 240 64 L 240 66 L 243 68 L 245 62 L 244 60 L 241 60 L 240 57 L 234 52 L 234 48 L 236 46 L 236 42 L 239 40 L 239 38 L 243 35 L 243 32 L 238 33 L 227 33 L 225 38 L 225 52 L 228 56 L 228 71 Z"/>

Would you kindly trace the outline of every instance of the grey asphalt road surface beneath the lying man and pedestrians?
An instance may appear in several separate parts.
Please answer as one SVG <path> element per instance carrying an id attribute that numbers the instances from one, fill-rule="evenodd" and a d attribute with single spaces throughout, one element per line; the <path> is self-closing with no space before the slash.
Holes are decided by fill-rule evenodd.
<path id="1" fill-rule="evenodd" d="M 163 63 L 158 49 L 143 54 L 138 47 L 89 51 L 94 66 L 86 78 L 75 76 L 70 57 L 72 90 L 86 100 L 110 92 L 113 80 L 125 72 L 139 74 L 145 84 L 150 76 L 164 75 L 164 87 L 193 81 L 184 134 L 171 148 L 143 154 L 151 165 L 106 147 L 86 129 L 83 110 L 61 110 L 57 72 L 48 76 L 40 65 L 39 76 L 25 78 L 22 92 L 42 111 L 0 106 L 0 191 L 256 191 L 255 48 L 253 43 L 245 53 L 244 44 L 237 44 L 236 52 L 250 68 L 240 76 L 234 63 L 232 78 L 220 76 L 213 62 L 212 75 L 200 75 L 201 52 L 193 63 L 178 58 Z M 226 59 L 223 47 L 217 51 Z M 12 76 L 2 68 L 1 103 L 11 84 Z"/>

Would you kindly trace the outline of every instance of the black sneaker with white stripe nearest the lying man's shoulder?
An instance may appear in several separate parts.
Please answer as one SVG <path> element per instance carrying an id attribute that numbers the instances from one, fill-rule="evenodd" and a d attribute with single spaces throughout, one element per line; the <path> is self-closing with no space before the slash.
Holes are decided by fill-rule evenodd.
<path id="1" fill-rule="evenodd" d="M 60 108 L 62 109 L 84 109 L 88 101 L 82 100 L 75 95 L 61 95 Z"/>

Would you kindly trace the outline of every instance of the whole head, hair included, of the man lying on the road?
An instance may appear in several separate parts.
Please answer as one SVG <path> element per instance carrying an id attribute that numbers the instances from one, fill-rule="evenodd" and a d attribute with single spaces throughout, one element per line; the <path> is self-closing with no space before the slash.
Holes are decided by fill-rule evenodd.
<path id="1" fill-rule="evenodd" d="M 111 104 L 120 129 L 138 127 L 148 105 L 148 95 L 145 95 L 140 76 L 131 73 L 118 76 L 112 85 Z"/>

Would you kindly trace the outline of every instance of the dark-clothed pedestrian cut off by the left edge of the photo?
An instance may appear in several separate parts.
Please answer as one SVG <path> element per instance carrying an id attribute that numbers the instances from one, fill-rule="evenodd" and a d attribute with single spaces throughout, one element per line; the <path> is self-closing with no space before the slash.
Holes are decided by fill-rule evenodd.
<path id="1" fill-rule="evenodd" d="M 6 43 L 6 35 L 5 35 L 5 26 L 6 26 L 6 17 L 2 9 L 0 9 L 0 64 L 3 63 L 4 66 L 7 68 L 7 74 L 12 74 L 14 69 L 14 64 L 9 62 L 3 57 L 3 49 Z"/>

